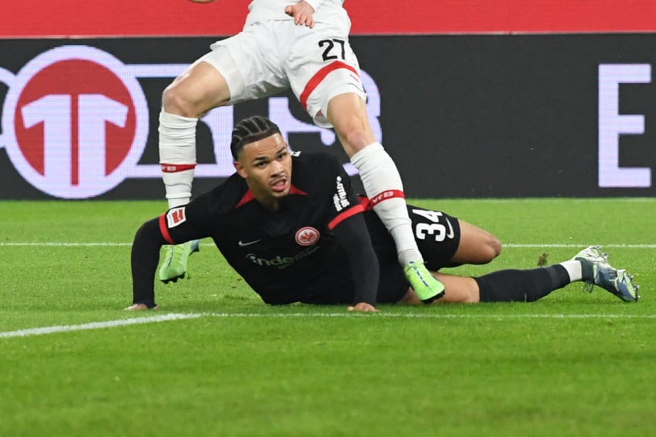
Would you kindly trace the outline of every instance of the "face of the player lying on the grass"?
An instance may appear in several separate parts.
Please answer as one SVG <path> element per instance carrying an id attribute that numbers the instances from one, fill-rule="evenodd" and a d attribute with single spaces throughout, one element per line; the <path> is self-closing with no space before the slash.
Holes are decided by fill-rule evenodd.
<path id="1" fill-rule="evenodd" d="M 277 210 L 278 199 L 289 194 L 292 157 L 280 134 L 243 146 L 235 168 L 264 206 Z"/>

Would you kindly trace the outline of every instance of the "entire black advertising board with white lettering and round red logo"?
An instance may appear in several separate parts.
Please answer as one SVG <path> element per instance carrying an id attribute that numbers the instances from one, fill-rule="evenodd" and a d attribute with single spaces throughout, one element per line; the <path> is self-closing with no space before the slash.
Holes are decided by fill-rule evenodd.
<path id="1" fill-rule="evenodd" d="M 215 38 L 0 40 L 0 199 L 163 199 L 161 92 Z M 653 196 L 656 34 L 352 37 L 408 197 Z M 235 121 L 352 168 L 292 94 L 198 128 L 194 194 L 232 173 Z"/>

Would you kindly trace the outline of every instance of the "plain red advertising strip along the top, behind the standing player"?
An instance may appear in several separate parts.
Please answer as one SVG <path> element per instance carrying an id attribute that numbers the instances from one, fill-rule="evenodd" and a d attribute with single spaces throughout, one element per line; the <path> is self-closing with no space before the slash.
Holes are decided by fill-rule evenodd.
<path id="1" fill-rule="evenodd" d="M 235 34 L 249 0 L 5 0 L 0 37 Z M 654 32 L 653 0 L 347 0 L 352 34 Z"/>

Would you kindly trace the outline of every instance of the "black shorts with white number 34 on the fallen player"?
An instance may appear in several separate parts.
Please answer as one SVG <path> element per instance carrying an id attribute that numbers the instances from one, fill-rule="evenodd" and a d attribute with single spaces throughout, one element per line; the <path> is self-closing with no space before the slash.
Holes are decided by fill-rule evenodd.
<path id="1" fill-rule="evenodd" d="M 437 272 L 442 267 L 452 266 L 451 259 L 460 243 L 458 219 L 444 212 L 413 205 L 408 205 L 408 215 L 428 270 Z M 410 283 L 399 264 L 396 245 L 375 212 L 367 210 L 365 219 L 380 266 L 377 302 L 397 303 L 408 292 Z"/>

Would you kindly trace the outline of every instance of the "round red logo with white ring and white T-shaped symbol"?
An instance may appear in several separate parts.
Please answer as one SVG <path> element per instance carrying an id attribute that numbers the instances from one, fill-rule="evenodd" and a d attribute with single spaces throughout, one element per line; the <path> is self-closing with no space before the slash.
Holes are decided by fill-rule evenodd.
<path id="1" fill-rule="evenodd" d="M 39 190 L 98 196 L 133 176 L 148 138 L 135 70 L 87 45 L 39 54 L 10 79 L 2 137 L 12 164 Z"/>

